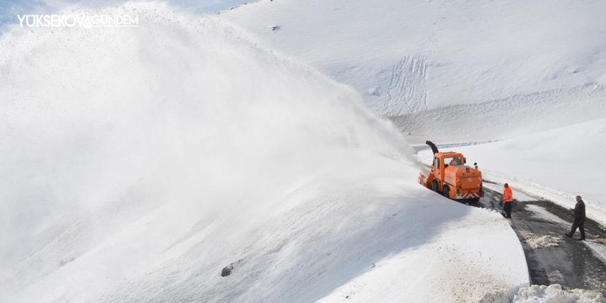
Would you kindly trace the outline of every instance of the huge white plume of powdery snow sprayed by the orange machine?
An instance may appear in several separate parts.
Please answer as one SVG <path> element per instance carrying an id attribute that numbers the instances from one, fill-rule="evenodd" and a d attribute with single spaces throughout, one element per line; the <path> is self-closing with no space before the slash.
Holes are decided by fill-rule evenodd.
<path id="1" fill-rule="evenodd" d="M 407 161 L 353 90 L 215 17 L 156 4 L 65 13 L 137 14 L 139 26 L 1 37 L 5 296 L 81 302 L 207 238 L 198 257 L 229 264 L 222 253 L 267 218 Z"/>

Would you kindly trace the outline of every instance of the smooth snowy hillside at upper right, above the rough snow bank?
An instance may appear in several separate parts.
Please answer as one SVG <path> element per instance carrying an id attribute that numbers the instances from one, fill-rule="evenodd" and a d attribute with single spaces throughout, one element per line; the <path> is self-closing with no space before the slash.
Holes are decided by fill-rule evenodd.
<path id="1" fill-rule="evenodd" d="M 260 0 L 222 17 L 410 114 L 606 81 L 600 0 Z"/>

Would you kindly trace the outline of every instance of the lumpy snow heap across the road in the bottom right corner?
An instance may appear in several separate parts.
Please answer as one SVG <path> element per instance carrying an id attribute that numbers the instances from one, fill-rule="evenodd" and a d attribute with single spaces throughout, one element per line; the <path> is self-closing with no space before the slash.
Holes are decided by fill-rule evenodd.
<path id="1" fill-rule="evenodd" d="M 587 291 L 584 289 L 562 289 L 559 284 L 550 286 L 532 285 L 518 291 L 514 297 L 514 303 L 594 303 L 606 302 L 598 291 Z"/>

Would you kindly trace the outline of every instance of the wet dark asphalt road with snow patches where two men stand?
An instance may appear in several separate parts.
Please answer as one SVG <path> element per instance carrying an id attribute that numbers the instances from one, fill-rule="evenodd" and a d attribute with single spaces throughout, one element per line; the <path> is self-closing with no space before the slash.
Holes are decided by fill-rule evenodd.
<path id="1" fill-rule="evenodd" d="M 514 191 L 514 197 L 516 192 Z M 503 194 L 487 189 L 475 207 L 501 211 Z M 525 197 L 514 200 L 512 229 L 520 239 L 532 284 L 561 284 L 574 289 L 593 289 L 606 296 L 606 229 L 587 219 L 587 242 L 564 236 L 572 226 L 572 210 L 553 202 Z M 572 204 L 572 202 L 571 202 Z M 554 246 L 552 246 L 554 245 Z"/>

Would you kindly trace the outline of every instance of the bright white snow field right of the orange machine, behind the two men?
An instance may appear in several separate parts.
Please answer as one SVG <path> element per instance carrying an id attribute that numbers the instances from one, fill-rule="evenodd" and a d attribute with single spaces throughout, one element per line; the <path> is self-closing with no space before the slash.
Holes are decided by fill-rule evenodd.
<path id="1" fill-rule="evenodd" d="M 606 224 L 606 194 L 600 178 L 606 171 L 600 156 L 606 149 L 606 119 L 452 149 L 463 152 L 482 169 L 504 174 L 498 176 L 499 181 L 511 182 L 514 189 L 519 185 L 529 194 L 550 198 L 564 207 L 574 207 L 574 197 L 583 196 L 587 216 Z M 427 158 L 431 152 L 421 153 Z"/>

